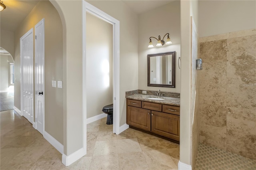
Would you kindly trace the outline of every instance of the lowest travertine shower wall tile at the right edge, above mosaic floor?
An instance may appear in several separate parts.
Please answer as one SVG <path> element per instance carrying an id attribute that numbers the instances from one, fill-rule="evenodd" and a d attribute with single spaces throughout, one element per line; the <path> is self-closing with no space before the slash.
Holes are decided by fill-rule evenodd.
<path id="1" fill-rule="evenodd" d="M 256 160 L 256 135 L 227 130 L 227 150 Z"/>

